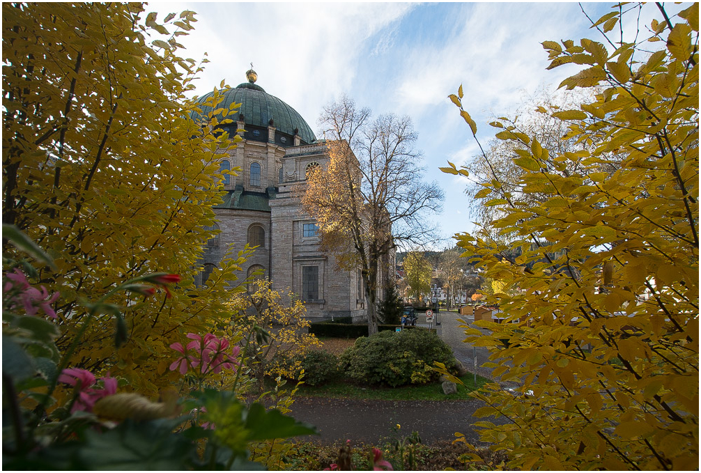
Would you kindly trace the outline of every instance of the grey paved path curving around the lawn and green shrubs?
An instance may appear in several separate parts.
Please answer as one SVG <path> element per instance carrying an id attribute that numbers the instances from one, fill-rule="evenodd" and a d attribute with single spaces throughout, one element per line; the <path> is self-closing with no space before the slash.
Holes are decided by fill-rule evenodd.
<path id="1" fill-rule="evenodd" d="M 491 369 L 479 365 L 488 361 L 488 350 L 472 347 L 463 343 L 465 334 L 459 327 L 464 318 L 456 313 L 442 311 L 438 314 L 441 322 L 437 334 L 453 348 L 455 357 L 468 371 L 475 368 L 477 356 L 477 373 L 491 379 Z M 423 316 L 418 325 L 428 327 Z M 473 349 L 474 348 L 474 349 Z M 301 439 L 332 443 L 336 440 L 351 439 L 379 443 L 392 437 L 404 437 L 416 430 L 424 443 L 430 444 L 440 440 L 453 440 L 455 433 L 465 434 L 472 444 L 480 445 L 477 434 L 470 427 L 477 418 L 472 417 L 475 410 L 484 404 L 477 399 L 465 401 L 363 401 L 358 399 L 325 399 L 321 397 L 297 397 L 292 404 L 291 415 L 297 420 L 315 425 L 320 436 L 301 437 Z M 503 420 L 490 419 L 499 423 Z M 397 433 L 395 426 L 401 425 Z"/>

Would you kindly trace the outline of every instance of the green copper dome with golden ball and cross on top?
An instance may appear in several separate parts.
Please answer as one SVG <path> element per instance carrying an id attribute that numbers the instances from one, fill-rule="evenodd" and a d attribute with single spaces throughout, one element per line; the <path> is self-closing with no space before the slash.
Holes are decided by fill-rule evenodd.
<path id="1" fill-rule="evenodd" d="M 217 107 L 229 108 L 232 103 L 241 104 L 238 112 L 233 116 L 229 115 L 226 118 L 231 118 L 233 121 L 238 121 L 240 115 L 243 114 L 243 121 L 247 125 L 246 137 L 249 138 L 250 128 L 260 127 L 264 130 L 257 132 L 256 135 L 251 135 L 251 139 L 260 137 L 267 140 L 267 128 L 270 121 L 273 121 L 273 126 L 276 129 L 276 134 L 283 133 L 288 135 L 287 139 L 283 139 L 283 146 L 292 145 L 292 137 L 294 130 L 298 130 L 301 141 L 305 144 L 310 144 L 316 141 L 314 132 L 309 128 L 309 125 L 304 121 L 304 118 L 297 113 L 297 110 L 290 107 L 282 100 L 273 95 L 268 94 L 260 85 L 256 85 L 254 81 L 257 79 L 257 74 L 251 69 L 247 72 L 249 82 L 245 82 L 236 86 L 236 88 L 221 92 L 224 100 Z M 212 97 L 214 92 L 210 92 L 198 98 L 198 102 L 203 103 L 207 98 Z M 203 114 L 212 111 L 212 107 L 200 107 Z M 193 118 L 196 118 L 193 116 Z M 248 125 L 252 125 L 249 127 Z M 278 142 L 278 139 L 275 139 Z"/>

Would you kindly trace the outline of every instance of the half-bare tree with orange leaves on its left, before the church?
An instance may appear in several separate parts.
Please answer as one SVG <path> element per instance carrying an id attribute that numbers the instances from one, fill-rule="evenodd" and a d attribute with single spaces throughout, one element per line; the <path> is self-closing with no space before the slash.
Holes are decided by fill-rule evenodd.
<path id="1" fill-rule="evenodd" d="M 440 211 L 443 192 L 422 180 L 411 119 L 371 115 L 348 97 L 325 107 L 319 123 L 329 161 L 310 172 L 298 192 L 318 222 L 322 248 L 341 267 L 360 268 L 374 334 L 381 276 L 393 276 L 397 246 L 430 240 L 434 228 L 427 214 Z"/>

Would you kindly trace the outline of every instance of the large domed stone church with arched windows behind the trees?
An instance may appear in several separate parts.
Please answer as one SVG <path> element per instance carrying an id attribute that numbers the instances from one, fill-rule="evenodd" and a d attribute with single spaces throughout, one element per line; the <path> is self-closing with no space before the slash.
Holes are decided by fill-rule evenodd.
<path id="1" fill-rule="evenodd" d="M 262 270 L 273 289 L 292 289 L 304 301 L 308 318 L 363 320 L 367 310 L 360 271 L 341 270 L 332 254 L 320 250 L 318 226 L 292 193 L 308 170 L 326 162 L 327 146 L 296 110 L 256 84 L 255 71 L 246 76 L 248 82 L 221 92 L 224 100 L 217 106 L 241 104 L 227 117 L 234 123 L 221 128 L 230 136 L 245 130 L 240 132 L 243 141 L 222 156 L 220 169 L 240 167 L 242 172 L 224 179 L 224 203 L 215 207 L 220 233 L 205 249 L 198 283 L 206 284 L 229 245 L 238 251 L 248 243 L 257 249 L 245 263 L 246 274 Z M 203 114 L 211 111 L 200 108 Z"/>

